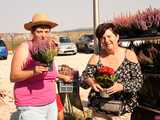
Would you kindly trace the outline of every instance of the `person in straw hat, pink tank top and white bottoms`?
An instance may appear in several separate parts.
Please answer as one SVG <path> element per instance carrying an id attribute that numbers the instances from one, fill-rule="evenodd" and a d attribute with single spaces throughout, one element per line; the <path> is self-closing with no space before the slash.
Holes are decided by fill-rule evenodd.
<path id="1" fill-rule="evenodd" d="M 57 25 L 45 13 L 34 14 L 32 21 L 24 24 L 33 37 L 16 48 L 10 72 L 11 82 L 15 83 L 17 120 L 57 120 L 55 63 L 53 61 L 53 69 L 48 71 L 48 67 L 34 60 L 30 53 L 33 42 L 49 38 L 50 30 Z"/>

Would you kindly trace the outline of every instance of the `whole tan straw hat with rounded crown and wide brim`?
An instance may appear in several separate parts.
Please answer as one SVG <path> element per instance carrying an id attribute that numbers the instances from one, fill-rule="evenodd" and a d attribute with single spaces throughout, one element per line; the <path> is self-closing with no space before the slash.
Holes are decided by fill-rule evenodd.
<path id="1" fill-rule="evenodd" d="M 57 26 L 58 24 L 48 20 L 48 15 L 45 13 L 36 13 L 32 17 L 32 21 L 25 23 L 24 28 L 26 30 L 32 30 L 33 26 L 37 25 L 49 25 L 51 28 Z"/>

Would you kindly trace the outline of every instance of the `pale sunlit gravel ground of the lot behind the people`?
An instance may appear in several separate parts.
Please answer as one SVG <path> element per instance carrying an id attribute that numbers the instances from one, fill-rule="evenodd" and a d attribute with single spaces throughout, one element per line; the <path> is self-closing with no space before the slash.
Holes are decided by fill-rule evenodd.
<path id="1" fill-rule="evenodd" d="M 57 64 L 67 64 L 81 73 L 85 68 L 87 61 L 91 54 L 77 53 L 76 55 L 69 56 L 57 56 L 55 58 Z M 0 120 L 16 120 L 14 116 L 15 105 L 13 100 L 13 83 L 9 80 L 10 65 L 11 65 L 12 54 L 8 56 L 7 60 L 0 60 L 0 90 L 5 90 L 7 96 L 0 100 Z M 85 104 L 87 101 L 89 90 L 80 89 L 80 96 Z M 12 117 L 11 117 L 12 116 Z"/>

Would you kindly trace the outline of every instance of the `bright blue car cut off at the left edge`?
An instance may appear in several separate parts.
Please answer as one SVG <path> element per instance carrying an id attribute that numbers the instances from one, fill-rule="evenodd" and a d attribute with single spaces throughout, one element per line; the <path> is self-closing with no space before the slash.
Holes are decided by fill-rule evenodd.
<path id="1" fill-rule="evenodd" d="M 0 40 L 0 59 L 7 59 L 8 49 L 3 40 Z"/>

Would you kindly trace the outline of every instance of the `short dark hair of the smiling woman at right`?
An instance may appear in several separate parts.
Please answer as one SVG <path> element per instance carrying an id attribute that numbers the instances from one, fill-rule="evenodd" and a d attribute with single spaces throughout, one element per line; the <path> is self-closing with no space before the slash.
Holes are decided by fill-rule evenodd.
<path id="1" fill-rule="evenodd" d="M 105 33 L 105 31 L 107 29 L 111 29 L 111 31 L 115 35 L 119 34 L 118 30 L 116 29 L 116 26 L 113 23 L 102 23 L 102 24 L 98 25 L 98 27 L 95 31 L 95 34 L 96 34 L 96 37 L 98 38 L 98 40 L 100 40 L 100 38 L 102 38 L 103 34 Z"/>

